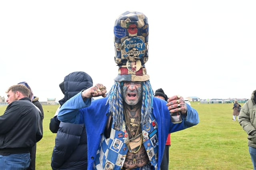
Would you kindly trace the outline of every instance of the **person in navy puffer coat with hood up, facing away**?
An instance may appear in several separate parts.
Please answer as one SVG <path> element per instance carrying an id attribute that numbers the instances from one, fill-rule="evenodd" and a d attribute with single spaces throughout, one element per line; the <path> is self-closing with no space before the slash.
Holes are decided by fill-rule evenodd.
<path id="1" fill-rule="evenodd" d="M 65 76 L 59 85 L 64 94 L 64 98 L 59 101 L 60 107 L 81 90 L 90 88 L 92 84 L 92 78 L 85 72 L 72 72 Z M 86 170 L 88 158 L 85 126 L 60 122 L 57 118 L 59 108 L 50 120 L 50 131 L 57 133 L 52 151 L 52 169 Z"/>

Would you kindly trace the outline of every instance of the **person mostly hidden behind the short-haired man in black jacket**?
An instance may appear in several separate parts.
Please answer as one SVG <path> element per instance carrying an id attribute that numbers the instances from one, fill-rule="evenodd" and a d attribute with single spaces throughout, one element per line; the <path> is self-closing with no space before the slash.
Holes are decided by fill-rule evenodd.
<path id="1" fill-rule="evenodd" d="M 38 109 L 41 111 L 40 114 L 40 130 L 43 132 L 43 119 L 44 119 L 44 109 L 40 102 L 38 101 L 39 98 L 34 96 L 32 89 L 28 85 L 27 82 L 19 82 L 18 84 L 23 84 L 29 89 L 29 98 L 32 101 L 32 103 L 38 107 Z M 30 165 L 27 170 L 36 170 L 36 144 L 30 149 Z"/>

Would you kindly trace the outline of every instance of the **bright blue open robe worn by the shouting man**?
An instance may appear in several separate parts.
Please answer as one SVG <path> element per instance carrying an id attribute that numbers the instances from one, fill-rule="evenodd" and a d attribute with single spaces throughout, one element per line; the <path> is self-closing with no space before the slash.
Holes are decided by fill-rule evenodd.
<path id="1" fill-rule="evenodd" d="M 108 98 L 100 98 L 91 101 L 83 101 L 81 92 L 70 98 L 58 113 L 58 119 L 69 123 L 84 123 L 87 131 L 88 143 L 88 170 L 93 170 L 96 152 L 100 146 L 106 123 L 108 121 L 109 104 Z M 90 106 L 90 107 L 89 107 Z M 187 115 L 182 115 L 182 122 L 171 123 L 170 112 L 166 101 L 153 98 L 152 114 L 157 123 L 158 131 L 158 170 L 164 154 L 164 147 L 169 133 L 174 133 L 192 127 L 199 123 L 198 112 L 187 104 Z M 104 167 L 103 167 L 104 168 Z"/>

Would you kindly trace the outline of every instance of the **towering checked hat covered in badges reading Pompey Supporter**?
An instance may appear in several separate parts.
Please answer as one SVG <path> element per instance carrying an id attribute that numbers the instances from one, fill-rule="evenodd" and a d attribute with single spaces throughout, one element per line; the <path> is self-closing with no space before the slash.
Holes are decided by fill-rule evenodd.
<path id="1" fill-rule="evenodd" d="M 141 12 L 126 11 L 114 26 L 116 81 L 146 81 L 145 63 L 148 61 L 148 18 Z"/>

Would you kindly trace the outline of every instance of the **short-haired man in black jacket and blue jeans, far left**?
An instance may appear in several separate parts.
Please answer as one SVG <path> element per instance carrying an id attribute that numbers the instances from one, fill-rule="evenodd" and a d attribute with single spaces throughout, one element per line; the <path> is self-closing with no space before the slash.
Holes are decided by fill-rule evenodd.
<path id="1" fill-rule="evenodd" d="M 42 139 L 38 131 L 40 111 L 28 98 L 30 90 L 23 84 L 11 86 L 6 93 L 9 105 L 0 116 L 0 169 L 26 170 L 30 149 Z"/>

